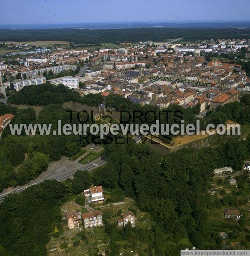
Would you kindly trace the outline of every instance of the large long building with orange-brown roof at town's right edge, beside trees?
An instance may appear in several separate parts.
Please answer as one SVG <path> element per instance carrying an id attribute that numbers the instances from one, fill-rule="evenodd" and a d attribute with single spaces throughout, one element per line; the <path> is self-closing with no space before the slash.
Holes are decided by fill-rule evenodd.
<path id="1" fill-rule="evenodd" d="M 238 100 L 239 91 L 235 89 L 227 90 L 225 93 L 221 93 L 218 96 L 215 96 L 210 101 L 210 110 L 216 109 L 218 106 L 224 106 L 230 102 L 235 102 Z"/>

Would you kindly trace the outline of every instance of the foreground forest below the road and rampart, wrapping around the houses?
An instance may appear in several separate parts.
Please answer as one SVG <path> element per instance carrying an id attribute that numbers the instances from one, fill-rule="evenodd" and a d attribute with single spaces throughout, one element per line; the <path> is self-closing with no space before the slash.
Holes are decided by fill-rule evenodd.
<path id="1" fill-rule="evenodd" d="M 60 206 L 91 183 L 101 184 L 104 189 L 121 189 L 135 198 L 140 210 L 149 212 L 156 223 L 150 229 L 126 226 L 118 230 L 103 216 L 111 247 L 107 255 L 117 255 L 119 246 L 115 241 L 120 239 L 146 243 L 147 255 L 153 256 L 179 255 L 187 241 L 197 248 L 220 249 L 222 240 L 209 221 L 208 208 L 232 204 L 228 196 L 220 200 L 208 196 L 208 183 L 214 168 L 232 165 L 239 170 L 250 156 L 249 148 L 249 136 L 246 141 L 235 137 L 220 146 L 183 149 L 161 157 L 144 144 L 112 143 L 105 146 L 107 165 L 97 169 L 95 175 L 78 171 L 66 183 L 44 181 L 5 198 L 0 204 L 0 254 L 47 255 L 45 245 L 55 226 L 60 229 L 62 225 Z M 240 221 L 233 233 L 245 230 L 245 223 Z M 240 243 L 248 246 L 249 235 Z"/>

